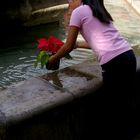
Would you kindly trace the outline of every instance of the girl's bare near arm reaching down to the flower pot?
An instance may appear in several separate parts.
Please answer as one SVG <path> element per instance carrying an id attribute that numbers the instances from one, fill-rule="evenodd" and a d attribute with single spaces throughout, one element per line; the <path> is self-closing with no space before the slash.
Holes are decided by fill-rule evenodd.
<path id="1" fill-rule="evenodd" d="M 79 32 L 78 27 L 75 26 L 69 27 L 66 43 L 59 49 L 59 51 L 55 55 L 52 55 L 49 58 L 48 69 L 51 69 L 51 67 L 53 67 L 53 65 L 58 59 L 61 59 L 62 57 L 64 57 L 66 54 L 70 53 L 74 49 L 78 32 Z"/>

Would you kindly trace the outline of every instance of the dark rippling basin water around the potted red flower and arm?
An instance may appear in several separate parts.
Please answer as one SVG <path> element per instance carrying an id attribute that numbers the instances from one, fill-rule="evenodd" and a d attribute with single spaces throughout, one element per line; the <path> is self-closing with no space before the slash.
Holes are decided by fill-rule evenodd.
<path id="1" fill-rule="evenodd" d="M 64 30 L 57 23 L 33 27 L 8 43 L 7 49 L 1 49 L 0 53 L 0 88 L 15 84 L 30 77 L 36 77 L 47 72 L 40 68 L 34 68 L 34 61 L 38 54 L 37 39 L 48 38 L 53 35 L 61 40 L 65 39 Z M 73 59 L 61 60 L 60 68 L 78 64 L 92 56 L 91 50 L 75 50 L 71 53 Z"/>

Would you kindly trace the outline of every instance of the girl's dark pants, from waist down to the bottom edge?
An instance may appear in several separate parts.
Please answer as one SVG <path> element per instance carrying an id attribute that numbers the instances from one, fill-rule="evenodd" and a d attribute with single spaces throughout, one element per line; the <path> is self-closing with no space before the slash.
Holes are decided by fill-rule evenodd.
<path id="1" fill-rule="evenodd" d="M 124 52 L 101 67 L 104 83 L 103 122 L 109 125 L 108 131 L 114 135 L 112 139 L 132 139 L 135 133 L 135 55 L 132 50 Z"/>

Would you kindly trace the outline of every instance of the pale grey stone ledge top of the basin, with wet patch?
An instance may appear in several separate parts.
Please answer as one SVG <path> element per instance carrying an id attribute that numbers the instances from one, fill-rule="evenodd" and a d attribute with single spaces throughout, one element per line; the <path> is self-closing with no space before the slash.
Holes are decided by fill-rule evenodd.
<path id="1" fill-rule="evenodd" d="M 4 115 L 0 118 L 7 125 L 28 119 L 84 96 L 100 84 L 100 67 L 90 61 L 84 67 L 82 63 L 31 78 L 0 92 L 0 111 Z"/>

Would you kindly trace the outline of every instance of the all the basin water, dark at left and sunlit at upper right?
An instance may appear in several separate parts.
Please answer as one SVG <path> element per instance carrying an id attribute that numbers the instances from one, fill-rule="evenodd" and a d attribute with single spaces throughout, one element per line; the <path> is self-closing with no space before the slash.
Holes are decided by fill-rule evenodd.
<path id="1" fill-rule="evenodd" d="M 136 45 L 135 52 L 140 55 L 140 47 L 137 45 L 140 44 L 140 17 L 123 0 L 106 0 L 106 6 L 115 20 L 114 24 L 132 45 Z M 58 24 L 33 27 L 28 32 L 17 36 L 18 43 L 14 42 L 9 45 L 9 48 L 12 46 L 17 49 L 0 53 L 0 89 L 30 77 L 51 72 L 45 68 L 40 69 L 40 67 L 35 69 L 33 66 L 37 55 L 36 40 L 40 37 L 47 38 L 50 35 L 64 40 L 62 25 L 60 27 Z M 78 64 L 87 59 L 93 59 L 96 62 L 91 50 L 75 49 L 71 55 L 73 60 L 62 59 L 60 68 Z M 57 79 L 55 80 L 58 82 Z M 61 86 L 61 82 L 58 84 Z"/>

